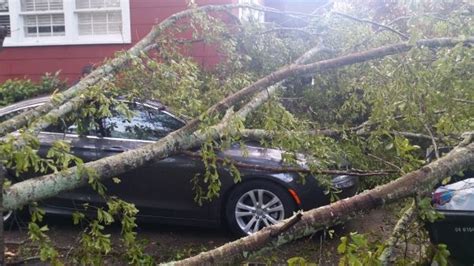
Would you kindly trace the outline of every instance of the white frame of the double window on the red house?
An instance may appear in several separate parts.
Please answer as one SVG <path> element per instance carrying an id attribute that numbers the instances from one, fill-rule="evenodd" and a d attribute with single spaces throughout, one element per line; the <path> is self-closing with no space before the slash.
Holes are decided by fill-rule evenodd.
<path id="1" fill-rule="evenodd" d="M 95 11 L 95 9 L 76 10 L 75 0 L 63 0 L 64 24 L 66 32 L 64 36 L 40 36 L 26 37 L 22 15 L 39 14 L 41 12 L 22 12 L 20 0 L 8 0 L 10 13 L 11 36 L 5 38 L 4 47 L 24 46 L 52 46 L 52 45 L 78 45 L 78 44 L 128 44 L 131 43 L 130 29 L 130 2 L 133 0 L 120 0 L 122 11 L 122 34 L 114 35 L 79 35 L 77 14 L 79 12 Z M 101 9 L 117 10 L 117 8 Z M 58 11 L 47 11 L 48 14 Z"/>

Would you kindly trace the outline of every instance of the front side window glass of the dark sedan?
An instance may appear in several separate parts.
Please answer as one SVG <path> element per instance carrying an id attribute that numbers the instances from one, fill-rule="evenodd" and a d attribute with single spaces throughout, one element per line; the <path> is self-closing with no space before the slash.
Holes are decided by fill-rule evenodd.
<path id="1" fill-rule="evenodd" d="M 159 140 L 184 125 L 170 114 L 142 104 L 131 104 L 129 108 L 131 117 L 112 110 L 112 116 L 103 119 L 104 137 Z"/>

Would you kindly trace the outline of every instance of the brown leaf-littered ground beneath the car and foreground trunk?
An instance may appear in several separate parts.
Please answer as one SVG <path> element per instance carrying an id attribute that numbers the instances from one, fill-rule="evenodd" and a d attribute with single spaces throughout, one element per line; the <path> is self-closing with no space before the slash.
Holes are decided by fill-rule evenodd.
<path id="1" fill-rule="evenodd" d="M 347 224 L 336 228 L 332 239 L 328 233 L 320 233 L 299 241 L 287 244 L 269 253 L 252 258 L 246 258 L 241 263 L 256 264 L 285 264 L 292 257 L 303 257 L 307 261 L 319 265 L 337 265 L 339 256 L 336 248 L 340 237 L 350 232 L 367 233 L 373 239 L 386 238 L 396 222 L 393 206 L 361 214 Z M 81 230 L 80 226 L 73 226 L 70 219 L 50 217 L 47 220 L 50 226 L 50 237 L 61 251 L 62 256 L 70 256 L 77 247 L 75 236 Z M 112 226 L 112 234 L 120 233 L 119 226 Z M 184 226 L 167 226 L 159 224 L 140 225 L 139 235 L 147 240 L 147 252 L 152 254 L 157 261 L 166 262 L 179 260 L 201 251 L 220 246 L 234 239 L 224 229 L 195 228 Z M 326 235 L 326 237 L 324 237 Z M 25 263 L 28 265 L 43 265 L 36 257 L 36 247 L 29 244 L 26 229 L 7 230 L 5 242 L 8 249 L 9 261 Z M 119 245 L 118 241 L 115 241 Z M 110 259 L 117 257 L 112 254 Z M 113 262 L 118 265 L 117 262 Z M 22 265 L 22 264 L 17 264 Z M 124 264 L 126 265 L 126 264 Z"/>

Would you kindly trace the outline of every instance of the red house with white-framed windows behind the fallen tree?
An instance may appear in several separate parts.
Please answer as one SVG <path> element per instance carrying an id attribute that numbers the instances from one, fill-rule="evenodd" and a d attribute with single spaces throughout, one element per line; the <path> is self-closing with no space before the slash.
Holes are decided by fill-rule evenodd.
<path id="1" fill-rule="evenodd" d="M 83 66 L 100 63 L 128 49 L 158 21 L 187 7 L 187 0 L 0 0 L 0 26 L 11 29 L 0 53 L 0 82 L 11 78 L 37 80 L 61 70 L 69 81 Z M 260 2 L 298 10 L 318 0 L 195 0 L 198 5 Z M 292 4 L 293 3 L 293 4 Z M 193 48 L 204 65 L 218 58 L 212 47 Z"/>

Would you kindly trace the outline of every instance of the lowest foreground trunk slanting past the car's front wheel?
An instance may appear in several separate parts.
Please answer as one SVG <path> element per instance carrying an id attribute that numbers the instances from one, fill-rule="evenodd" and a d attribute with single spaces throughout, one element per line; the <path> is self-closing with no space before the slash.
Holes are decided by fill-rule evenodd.
<path id="1" fill-rule="evenodd" d="M 388 184 L 364 191 L 351 198 L 339 200 L 330 205 L 303 212 L 301 221 L 278 237 L 272 237 L 272 232 L 278 231 L 288 219 L 216 249 L 168 264 L 214 264 L 229 261 L 232 257 L 244 252 L 252 253 L 266 248 L 275 248 L 295 239 L 311 235 L 321 229 L 347 221 L 356 216 L 361 210 L 371 210 L 415 194 L 429 193 L 446 176 L 454 175 L 472 165 L 474 165 L 474 143 L 457 147 L 441 159 Z"/>

